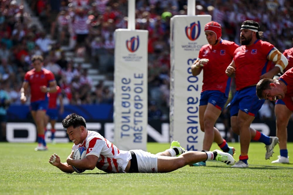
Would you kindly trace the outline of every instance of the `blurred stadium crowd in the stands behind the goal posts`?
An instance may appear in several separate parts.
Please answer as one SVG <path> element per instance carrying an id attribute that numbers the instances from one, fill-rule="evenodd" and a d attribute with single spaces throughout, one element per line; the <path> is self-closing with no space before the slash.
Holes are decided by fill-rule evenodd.
<path id="1" fill-rule="evenodd" d="M 42 27 L 21 1 L 0 0 L 0 76 L 12 104 L 20 104 L 20 88 L 33 54 L 44 56 L 61 87 L 66 104 L 112 103 L 111 88 L 100 82 L 93 86 L 81 63 L 66 52 L 82 57 L 113 80 L 114 40 L 117 28 L 127 28 L 127 0 L 27 0 Z M 187 1 L 137 0 L 136 29 L 148 30 L 149 118 L 167 119 L 169 113 L 170 18 L 186 15 Z M 244 20 L 261 24 L 264 40 L 283 52 L 292 47 L 293 1 L 207 0 L 196 1 L 196 14 L 210 14 L 222 25 L 222 38 L 240 44 L 239 29 Z M 67 46 L 67 50 L 62 49 Z M 196 57 L 196 56 L 195 56 Z M 29 103 L 29 101 L 27 101 Z M 264 113 L 272 112 L 268 102 Z M 273 118 L 272 115 L 262 117 Z"/>

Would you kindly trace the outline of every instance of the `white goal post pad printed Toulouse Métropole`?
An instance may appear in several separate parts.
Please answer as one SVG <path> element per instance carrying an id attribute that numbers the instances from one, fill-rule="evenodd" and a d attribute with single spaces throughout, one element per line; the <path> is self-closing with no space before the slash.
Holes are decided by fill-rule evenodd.
<path id="1" fill-rule="evenodd" d="M 115 30 L 114 142 L 147 151 L 148 31 Z"/>

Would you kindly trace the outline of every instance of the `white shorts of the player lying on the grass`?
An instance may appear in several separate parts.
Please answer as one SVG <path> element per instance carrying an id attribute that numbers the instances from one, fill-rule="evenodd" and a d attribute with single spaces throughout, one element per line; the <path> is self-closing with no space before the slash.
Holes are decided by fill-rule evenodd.
<path id="1" fill-rule="evenodd" d="M 157 173 L 158 156 L 143 150 L 133 151 L 137 159 L 137 167 L 140 173 Z"/>

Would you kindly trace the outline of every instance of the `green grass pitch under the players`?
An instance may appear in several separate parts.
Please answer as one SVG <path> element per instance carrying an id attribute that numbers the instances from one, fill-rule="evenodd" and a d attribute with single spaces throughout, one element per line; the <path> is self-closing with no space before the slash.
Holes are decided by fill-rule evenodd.
<path id="1" fill-rule="evenodd" d="M 253 142 L 249 148 L 249 168 L 231 168 L 219 162 L 207 162 L 206 167 L 185 166 L 170 173 L 107 174 L 97 168 L 84 173 L 67 174 L 53 167 L 48 160 L 54 152 L 62 162 L 71 152 L 71 143 L 48 144 L 48 151 L 34 151 L 36 143 L 1 143 L 0 194 L 293 194 L 293 159 L 291 164 L 271 164 L 265 160 L 265 147 Z M 229 143 L 236 148 L 239 143 Z M 151 153 L 169 148 L 169 144 L 148 143 Z M 216 144 L 211 150 L 219 149 Z M 293 156 L 293 143 L 288 143 Z"/>

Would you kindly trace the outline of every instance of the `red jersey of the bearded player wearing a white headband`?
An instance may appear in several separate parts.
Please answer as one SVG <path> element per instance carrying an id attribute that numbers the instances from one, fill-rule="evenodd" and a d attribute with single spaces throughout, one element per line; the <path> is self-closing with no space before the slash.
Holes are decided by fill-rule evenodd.
<path id="1" fill-rule="evenodd" d="M 256 85 L 260 76 L 271 68 L 268 63 L 268 54 L 274 48 L 269 42 L 255 41 L 250 46 L 241 45 L 234 51 L 234 62 L 236 66 L 235 83 L 236 90 Z"/>

